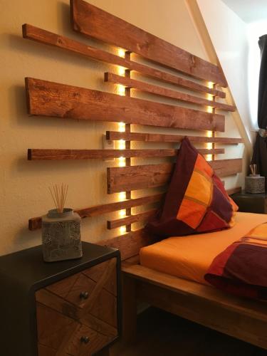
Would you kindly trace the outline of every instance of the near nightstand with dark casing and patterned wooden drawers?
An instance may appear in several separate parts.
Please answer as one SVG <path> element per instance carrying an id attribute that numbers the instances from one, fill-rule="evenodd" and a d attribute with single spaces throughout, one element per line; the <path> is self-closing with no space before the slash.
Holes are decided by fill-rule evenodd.
<path id="1" fill-rule="evenodd" d="M 41 246 L 0 257 L 1 355 L 97 355 L 121 333 L 120 251 L 43 262 Z"/>

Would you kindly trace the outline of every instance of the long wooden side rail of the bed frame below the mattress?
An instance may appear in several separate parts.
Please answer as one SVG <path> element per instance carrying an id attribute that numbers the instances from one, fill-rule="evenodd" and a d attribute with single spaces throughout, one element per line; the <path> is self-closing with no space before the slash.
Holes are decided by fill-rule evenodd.
<path id="1" fill-rule="evenodd" d="M 179 278 L 179 281 L 181 281 L 181 279 L 182 278 Z M 179 283 L 179 281 L 177 281 L 177 283 Z M 199 286 L 201 285 L 199 284 Z M 178 315 L 180 318 L 191 320 L 194 323 L 204 325 L 207 328 L 217 330 L 220 333 L 230 335 L 231 337 L 258 347 L 263 347 L 263 349 L 267 350 L 266 320 L 258 320 L 258 318 L 255 318 L 253 315 L 248 317 L 235 310 L 229 310 L 221 306 L 220 303 L 214 303 L 214 300 L 209 298 L 208 287 L 202 287 L 206 288 L 208 292 L 206 299 L 199 298 L 198 295 L 192 295 L 192 293 L 190 293 L 191 290 L 189 290 L 189 293 L 186 293 L 183 291 L 168 290 L 165 287 L 158 287 L 155 286 L 155 284 L 143 281 L 136 281 L 135 283 L 137 290 L 136 298 L 142 301 L 142 303 L 145 303 L 145 305 L 153 305 L 155 308 Z M 189 285 L 189 288 L 192 289 L 194 287 Z M 211 288 L 212 287 L 209 289 Z M 215 288 L 213 289 L 215 290 Z M 218 290 L 218 292 L 220 291 Z M 221 294 L 228 296 L 227 293 Z M 239 300 L 242 299 L 245 298 L 239 298 Z M 236 300 L 236 304 L 237 303 L 238 300 Z M 264 313 L 266 313 L 264 302 L 258 303 L 261 303 L 260 305 L 263 306 L 261 315 L 264 315 Z M 223 345 L 221 345 L 221 349 L 224 350 Z M 266 353 L 266 350 L 263 352 Z M 230 355 L 228 352 L 226 352 L 226 354 Z M 216 355 L 219 355 L 219 353 L 216 352 Z"/>

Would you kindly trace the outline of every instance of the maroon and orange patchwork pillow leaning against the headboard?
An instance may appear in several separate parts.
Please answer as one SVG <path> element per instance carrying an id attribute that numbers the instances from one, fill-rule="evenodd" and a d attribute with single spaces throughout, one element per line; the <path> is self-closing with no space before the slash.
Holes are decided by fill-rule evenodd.
<path id="1" fill-rule="evenodd" d="M 227 229 L 234 224 L 236 208 L 214 170 L 185 137 L 162 210 L 147 229 L 162 237 Z"/>

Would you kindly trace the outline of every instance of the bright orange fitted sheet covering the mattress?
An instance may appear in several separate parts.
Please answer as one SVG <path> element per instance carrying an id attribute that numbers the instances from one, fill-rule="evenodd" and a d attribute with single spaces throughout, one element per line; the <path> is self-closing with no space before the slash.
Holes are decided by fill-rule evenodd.
<path id="1" fill-rule="evenodd" d="M 142 266 L 207 284 L 204 274 L 213 259 L 256 226 L 267 223 L 267 215 L 237 212 L 231 229 L 206 234 L 169 237 L 140 250 Z"/>

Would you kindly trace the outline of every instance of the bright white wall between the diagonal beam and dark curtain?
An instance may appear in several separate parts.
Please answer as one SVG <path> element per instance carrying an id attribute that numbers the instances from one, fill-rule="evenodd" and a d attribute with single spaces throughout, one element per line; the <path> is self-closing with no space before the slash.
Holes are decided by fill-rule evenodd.
<path id="1" fill-rule="evenodd" d="M 221 0 L 197 0 L 209 36 L 224 70 L 231 94 L 239 110 L 246 135 L 253 142 L 248 100 L 248 38 L 247 26 Z M 226 31 L 227 26 L 227 31 Z M 256 89 L 257 91 L 257 89 Z"/>

